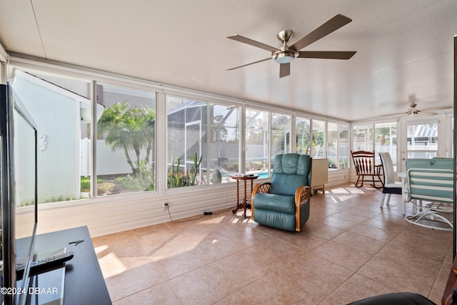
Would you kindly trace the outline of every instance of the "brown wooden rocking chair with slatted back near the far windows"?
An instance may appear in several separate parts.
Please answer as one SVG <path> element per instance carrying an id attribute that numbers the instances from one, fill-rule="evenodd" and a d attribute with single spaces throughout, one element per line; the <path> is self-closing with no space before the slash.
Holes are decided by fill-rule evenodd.
<path id="1" fill-rule="evenodd" d="M 382 164 L 375 165 L 374 151 L 351 151 L 352 161 L 356 168 L 356 187 L 362 187 L 363 181 L 373 182 L 371 186 L 376 189 L 382 189 L 383 181 L 381 180 L 381 168 Z M 371 180 L 366 180 L 366 176 L 370 177 Z M 362 177 L 361 184 L 358 185 L 358 181 Z M 378 182 L 379 186 L 376 185 Z"/>

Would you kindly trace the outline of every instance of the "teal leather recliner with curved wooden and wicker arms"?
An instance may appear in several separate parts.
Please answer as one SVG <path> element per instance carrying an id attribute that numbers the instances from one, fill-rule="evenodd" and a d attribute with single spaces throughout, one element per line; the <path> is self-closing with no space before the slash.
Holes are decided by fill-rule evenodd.
<path id="1" fill-rule="evenodd" d="M 271 182 L 257 184 L 251 194 L 251 219 L 287 231 L 301 231 L 309 218 L 311 156 L 278 154 Z"/>

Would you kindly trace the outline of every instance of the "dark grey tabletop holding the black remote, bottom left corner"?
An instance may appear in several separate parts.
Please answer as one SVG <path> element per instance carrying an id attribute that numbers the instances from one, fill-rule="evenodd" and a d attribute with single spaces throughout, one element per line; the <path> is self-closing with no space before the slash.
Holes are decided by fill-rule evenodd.
<path id="1" fill-rule="evenodd" d="M 16 241 L 18 257 L 26 256 L 29 237 Z M 84 240 L 74 246 L 71 241 Z M 74 253 L 66 262 L 64 305 L 112 304 L 87 226 L 36 236 L 35 252 L 66 248 Z"/>

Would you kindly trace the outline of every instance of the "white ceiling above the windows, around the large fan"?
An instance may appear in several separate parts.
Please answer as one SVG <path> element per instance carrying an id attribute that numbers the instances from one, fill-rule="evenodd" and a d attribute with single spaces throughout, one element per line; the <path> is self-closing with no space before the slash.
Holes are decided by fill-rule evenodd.
<path id="1" fill-rule="evenodd" d="M 296 59 L 279 78 L 270 56 L 227 39 L 281 46 L 336 14 L 353 21 L 303 50 L 357 51 L 349 60 Z M 233 96 L 346 121 L 453 106 L 456 0 L 3 0 L 9 52 Z"/>

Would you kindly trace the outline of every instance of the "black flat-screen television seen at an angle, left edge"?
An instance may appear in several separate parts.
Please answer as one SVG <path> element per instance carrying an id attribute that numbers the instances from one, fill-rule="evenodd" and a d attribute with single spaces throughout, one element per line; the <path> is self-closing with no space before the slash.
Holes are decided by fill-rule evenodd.
<path id="1" fill-rule="evenodd" d="M 37 127 L 11 86 L 0 84 L 0 195 L 1 195 L 1 296 L 5 305 L 25 304 L 34 259 L 34 241 L 38 223 Z M 16 224 L 16 206 L 33 206 L 34 219 Z M 22 281 L 16 281 L 15 227 L 28 226 L 31 234 L 28 255 L 24 258 Z M 6 294 L 3 293 L 6 292 Z M 20 294 L 13 292 L 21 291 Z M 9 293 L 11 292 L 11 293 Z"/>

